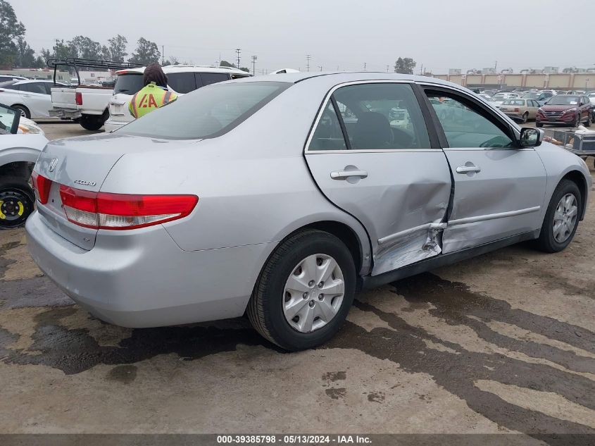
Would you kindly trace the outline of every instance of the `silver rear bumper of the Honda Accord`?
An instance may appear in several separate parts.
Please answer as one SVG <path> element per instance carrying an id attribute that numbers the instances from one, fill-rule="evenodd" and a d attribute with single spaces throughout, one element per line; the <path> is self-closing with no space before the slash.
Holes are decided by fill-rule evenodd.
<path id="1" fill-rule="evenodd" d="M 182 251 L 161 225 L 99 231 L 85 251 L 27 219 L 39 268 L 95 316 L 125 327 L 156 327 L 242 316 L 269 244 Z"/>

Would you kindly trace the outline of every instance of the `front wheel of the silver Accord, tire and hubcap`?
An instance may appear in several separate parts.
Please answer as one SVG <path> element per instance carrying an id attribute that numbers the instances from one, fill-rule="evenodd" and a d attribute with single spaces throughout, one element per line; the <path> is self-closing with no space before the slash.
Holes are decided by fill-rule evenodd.
<path id="1" fill-rule="evenodd" d="M 560 252 L 568 246 L 578 227 L 582 200 L 575 182 L 562 180 L 551 196 L 537 247 Z"/>

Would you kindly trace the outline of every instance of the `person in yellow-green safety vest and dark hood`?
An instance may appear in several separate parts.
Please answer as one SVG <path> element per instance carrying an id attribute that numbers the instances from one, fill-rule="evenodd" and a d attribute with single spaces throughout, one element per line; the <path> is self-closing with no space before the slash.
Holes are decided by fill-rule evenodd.
<path id="1" fill-rule="evenodd" d="M 128 104 L 128 111 L 134 118 L 177 99 L 177 94 L 168 91 L 168 77 L 158 63 L 151 63 L 144 69 L 142 80 L 144 88 L 134 94 Z"/>

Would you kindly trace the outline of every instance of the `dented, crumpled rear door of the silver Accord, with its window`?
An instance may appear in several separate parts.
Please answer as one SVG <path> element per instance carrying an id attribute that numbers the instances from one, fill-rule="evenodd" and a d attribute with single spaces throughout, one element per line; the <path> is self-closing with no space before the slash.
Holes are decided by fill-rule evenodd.
<path id="1" fill-rule="evenodd" d="M 451 175 L 414 86 L 338 86 L 323 104 L 306 161 L 322 193 L 368 230 L 372 275 L 439 254 Z"/>

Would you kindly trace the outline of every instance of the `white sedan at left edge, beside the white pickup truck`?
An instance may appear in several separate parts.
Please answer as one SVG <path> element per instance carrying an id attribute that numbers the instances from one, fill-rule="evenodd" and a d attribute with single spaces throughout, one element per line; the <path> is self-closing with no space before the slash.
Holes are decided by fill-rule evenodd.
<path id="1" fill-rule="evenodd" d="M 2 104 L 18 109 L 24 118 L 49 118 L 51 80 L 9 80 L 0 84 Z"/>

